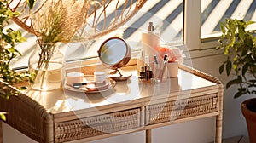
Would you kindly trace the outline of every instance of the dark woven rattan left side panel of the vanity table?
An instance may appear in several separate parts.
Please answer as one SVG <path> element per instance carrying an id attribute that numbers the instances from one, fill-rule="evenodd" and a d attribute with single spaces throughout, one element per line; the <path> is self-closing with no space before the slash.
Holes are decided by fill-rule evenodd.
<path id="1" fill-rule="evenodd" d="M 10 126 L 38 142 L 49 142 L 52 116 L 37 102 L 19 94 L 9 100 L 0 98 L 0 109 L 8 112 L 6 123 Z"/>

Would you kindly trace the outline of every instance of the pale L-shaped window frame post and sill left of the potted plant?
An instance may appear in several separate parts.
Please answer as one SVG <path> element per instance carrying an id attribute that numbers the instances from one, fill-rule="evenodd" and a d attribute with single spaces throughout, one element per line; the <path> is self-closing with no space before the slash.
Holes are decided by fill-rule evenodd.
<path id="1" fill-rule="evenodd" d="M 215 49 L 220 35 L 201 39 L 201 0 L 184 0 L 183 14 L 183 43 L 189 59 L 222 54 L 221 50 Z"/>

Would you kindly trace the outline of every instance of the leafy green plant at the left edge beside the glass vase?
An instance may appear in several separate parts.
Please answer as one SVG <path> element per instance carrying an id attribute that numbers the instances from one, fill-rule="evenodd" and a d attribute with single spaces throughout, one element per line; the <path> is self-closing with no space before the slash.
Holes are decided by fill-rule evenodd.
<path id="1" fill-rule="evenodd" d="M 0 1 L 0 78 L 6 83 L 0 87 L 0 98 L 4 99 L 9 99 L 10 95 L 16 94 L 7 90 L 8 85 L 19 83 L 24 81 L 26 77 L 29 79 L 31 77 L 28 72 L 18 73 L 9 66 L 11 60 L 14 60 L 20 55 L 20 52 L 15 49 L 15 44 L 24 42 L 26 39 L 22 37 L 20 31 L 4 28 L 4 26 L 8 25 L 9 20 L 12 17 L 19 14 L 17 12 L 12 12 L 8 9 L 7 5 L 8 0 Z M 20 87 L 20 89 L 24 88 L 25 87 Z M 5 119 L 3 114 L 4 112 L 0 112 L 0 119 Z"/>

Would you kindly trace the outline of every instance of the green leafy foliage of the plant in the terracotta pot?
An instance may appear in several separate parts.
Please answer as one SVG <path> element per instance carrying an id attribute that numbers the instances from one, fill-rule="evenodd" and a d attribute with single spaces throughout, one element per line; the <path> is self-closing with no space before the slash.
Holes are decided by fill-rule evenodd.
<path id="1" fill-rule="evenodd" d="M 244 94 L 256 94 L 256 37 L 253 37 L 253 31 L 246 31 L 246 27 L 253 23 L 226 19 L 220 25 L 223 34 L 218 40 L 217 49 L 224 49 L 227 60 L 219 67 L 219 73 L 223 73 L 225 69 L 227 76 L 231 72 L 234 74 L 235 78 L 226 84 L 226 88 L 238 85 L 235 98 Z"/>

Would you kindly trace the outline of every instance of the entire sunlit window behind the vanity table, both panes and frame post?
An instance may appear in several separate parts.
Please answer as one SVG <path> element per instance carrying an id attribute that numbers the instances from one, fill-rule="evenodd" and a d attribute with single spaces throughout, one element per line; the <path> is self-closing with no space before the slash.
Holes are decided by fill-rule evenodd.
<path id="1" fill-rule="evenodd" d="M 120 1 L 122 2 L 122 1 Z M 136 1 L 131 1 L 134 3 Z M 69 43 L 62 48 L 66 60 L 79 60 L 97 55 L 96 51 L 104 38 L 123 34 L 131 48 L 140 48 L 141 32 L 147 31 L 149 21 L 154 22 L 162 41 L 167 44 L 184 43 L 191 51 L 212 49 L 218 44 L 219 23 L 225 18 L 256 21 L 256 0 L 154 0 L 147 1 L 143 8 L 124 26 L 106 37 L 90 42 Z M 15 24 L 10 26 L 20 29 Z M 249 27 L 256 30 L 256 24 Z M 23 31 L 27 43 L 18 45 L 23 56 L 14 66 L 26 66 L 29 54 L 35 48 L 35 37 Z"/>

